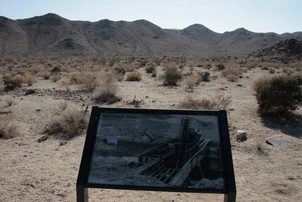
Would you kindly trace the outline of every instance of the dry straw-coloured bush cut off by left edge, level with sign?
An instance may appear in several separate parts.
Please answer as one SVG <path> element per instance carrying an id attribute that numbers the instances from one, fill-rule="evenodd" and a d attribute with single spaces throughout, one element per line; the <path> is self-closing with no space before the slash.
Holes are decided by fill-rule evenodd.
<path id="1" fill-rule="evenodd" d="M 21 135 L 18 126 L 12 121 L 11 117 L 0 119 L 0 138 L 9 139 Z"/>

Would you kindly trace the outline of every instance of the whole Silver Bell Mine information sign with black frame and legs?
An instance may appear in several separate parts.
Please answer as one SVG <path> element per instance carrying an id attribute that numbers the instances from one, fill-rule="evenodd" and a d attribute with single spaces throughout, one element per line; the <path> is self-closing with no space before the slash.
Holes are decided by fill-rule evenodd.
<path id="1" fill-rule="evenodd" d="M 226 111 L 92 108 L 77 181 L 87 188 L 225 194 L 236 186 Z"/>

